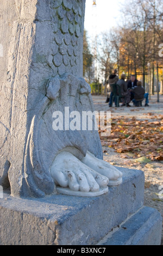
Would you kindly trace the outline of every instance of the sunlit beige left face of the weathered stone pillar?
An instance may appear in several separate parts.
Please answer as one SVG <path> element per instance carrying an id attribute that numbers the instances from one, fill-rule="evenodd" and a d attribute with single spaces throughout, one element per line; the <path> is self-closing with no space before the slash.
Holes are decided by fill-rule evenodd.
<path id="1" fill-rule="evenodd" d="M 17 183 L 21 182 L 24 144 L 27 138 L 27 97 L 36 28 L 33 18 L 36 2 L 1 1 L 0 43 L 3 45 L 4 54 L 0 62 L 0 184 L 3 187 L 9 185 L 8 174 L 11 169 L 14 173 L 16 169 Z"/>

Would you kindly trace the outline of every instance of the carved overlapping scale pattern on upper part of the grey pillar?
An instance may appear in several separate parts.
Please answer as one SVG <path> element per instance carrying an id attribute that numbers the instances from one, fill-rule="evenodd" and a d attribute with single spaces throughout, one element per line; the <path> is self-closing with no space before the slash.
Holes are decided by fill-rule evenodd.
<path id="1" fill-rule="evenodd" d="M 51 3 L 54 22 L 54 41 L 52 46 L 53 64 L 57 74 L 78 75 L 82 57 L 83 40 L 83 1 L 55 0 Z"/>

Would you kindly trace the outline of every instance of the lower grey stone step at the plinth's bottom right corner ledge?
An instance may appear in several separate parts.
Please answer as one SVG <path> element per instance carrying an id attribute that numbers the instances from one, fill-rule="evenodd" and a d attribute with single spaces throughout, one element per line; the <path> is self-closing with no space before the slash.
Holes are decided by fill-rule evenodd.
<path id="1" fill-rule="evenodd" d="M 120 226 L 109 232 L 98 245 L 160 245 L 161 214 L 143 206 Z"/>

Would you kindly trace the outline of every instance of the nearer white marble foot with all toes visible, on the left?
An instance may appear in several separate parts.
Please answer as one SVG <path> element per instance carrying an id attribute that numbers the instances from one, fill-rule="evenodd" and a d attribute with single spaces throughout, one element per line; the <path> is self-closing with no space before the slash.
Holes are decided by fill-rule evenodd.
<path id="1" fill-rule="evenodd" d="M 59 193 L 72 196 L 99 196 L 108 192 L 109 179 L 67 151 L 55 157 L 51 175 Z"/>

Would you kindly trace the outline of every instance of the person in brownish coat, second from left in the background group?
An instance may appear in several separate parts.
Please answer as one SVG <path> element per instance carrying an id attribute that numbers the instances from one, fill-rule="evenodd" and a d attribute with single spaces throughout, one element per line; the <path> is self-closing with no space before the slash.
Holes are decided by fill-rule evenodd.
<path id="1" fill-rule="evenodd" d="M 127 89 L 127 83 L 124 81 L 126 79 L 126 75 L 122 74 L 121 79 L 117 82 L 117 84 L 120 86 L 121 89 L 121 95 L 124 96 L 122 98 L 122 106 L 130 107 L 130 91 Z M 118 90 L 117 90 L 118 94 Z"/>

